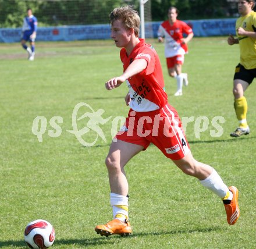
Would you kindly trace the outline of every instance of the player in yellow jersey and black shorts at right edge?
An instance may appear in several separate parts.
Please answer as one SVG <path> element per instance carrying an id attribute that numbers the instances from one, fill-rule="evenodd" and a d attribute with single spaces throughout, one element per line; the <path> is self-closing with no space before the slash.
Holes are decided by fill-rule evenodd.
<path id="1" fill-rule="evenodd" d="M 232 137 L 240 137 L 250 133 L 246 120 L 247 101 L 244 92 L 256 77 L 256 12 L 253 11 L 254 0 L 239 0 L 239 19 L 236 21 L 237 38 L 229 35 L 229 45 L 239 44 L 240 62 L 234 73 L 234 109 L 239 127 L 230 134 Z"/>

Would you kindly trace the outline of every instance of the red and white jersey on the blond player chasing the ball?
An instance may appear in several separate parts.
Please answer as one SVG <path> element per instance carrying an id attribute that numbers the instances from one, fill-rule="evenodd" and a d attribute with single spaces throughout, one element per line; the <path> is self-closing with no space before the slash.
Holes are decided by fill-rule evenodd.
<path id="1" fill-rule="evenodd" d="M 150 112 L 162 108 L 168 102 L 164 91 L 162 67 L 155 49 L 143 39 L 134 47 L 131 54 L 125 48 L 120 50 L 123 72 L 136 59 L 145 59 L 147 67 L 126 80 L 131 97 L 130 108 L 136 112 Z"/>

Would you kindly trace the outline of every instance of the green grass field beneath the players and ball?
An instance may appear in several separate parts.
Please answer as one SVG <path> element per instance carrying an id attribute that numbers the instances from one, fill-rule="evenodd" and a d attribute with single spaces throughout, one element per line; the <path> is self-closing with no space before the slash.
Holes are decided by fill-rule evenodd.
<path id="1" fill-rule="evenodd" d="M 170 104 L 181 118 L 194 117 L 186 134 L 195 159 L 239 188 L 239 221 L 227 225 L 222 201 L 151 145 L 126 166 L 133 234 L 96 234 L 96 225 L 112 219 L 105 167 L 112 120 L 128 111 L 125 85 L 105 90 L 105 81 L 122 72 L 119 49 L 112 41 L 37 42 L 35 61 L 30 62 L 19 44 L 0 44 L 0 248 L 26 248 L 24 229 L 34 219 L 55 227 L 56 249 L 255 248 L 255 81 L 246 92 L 251 134 L 229 136 L 238 125 L 232 86 L 239 47 L 228 46 L 226 37 L 194 38 L 183 66 L 189 86 L 182 97 L 173 97 L 176 81 L 168 76 L 163 44 L 148 42 L 161 58 Z M 94 111 L 104 109 L 104 119 L 112 116 L 100 125 L 106 143 L 98 137 L 85 147 L 66 131 L 73 130 L 72 113 L 80 102 Z M 88 111 L 83 106 L 79 115 Z M 41 143 L 32 132 L 37 116 L 47 120 Z M 58 133 L 49 123 L 54 116 L 63 121 Z M 195 120 L 201 116 L 209 126 L 198 133 Z M 225 119 L 219 137 L 211 136 L 215 116 Z M 86 121 L 77 121 L 79 129 Z M 83 139 L 92 143 L 96 136 L 91 130 Z"/>

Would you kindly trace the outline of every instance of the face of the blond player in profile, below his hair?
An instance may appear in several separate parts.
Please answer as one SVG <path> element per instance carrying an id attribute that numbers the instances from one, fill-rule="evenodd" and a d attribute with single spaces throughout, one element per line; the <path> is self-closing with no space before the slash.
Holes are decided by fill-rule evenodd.
<path id="1" fill-rule="evenodd" d="M 122 21 L 115 20 L 111 27 L 111 38 L 115 41 L 116 47 L 126 48 L 129 44 L 131 31 L 125 29 Z"/>

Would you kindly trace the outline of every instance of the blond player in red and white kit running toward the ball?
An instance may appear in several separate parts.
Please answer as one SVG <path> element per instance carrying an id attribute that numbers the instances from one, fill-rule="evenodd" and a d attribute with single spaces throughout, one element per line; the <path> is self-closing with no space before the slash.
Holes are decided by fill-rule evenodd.
<path id="1" fill-rule="evenodd" d="M 236 223 L 239 218 L 238 190 L 227 187 L 215 169 L 196 161 L 182 129 L 179 116 L 168 104 L 163 90 L 163 74 L 157 52 L 150 44 L 138 38 L 140 17 L 131 6 L 116 8 L 111 12 L 111 37 L 120 49 L 123 73 L 105 83 L 107 90 L 115 90 L 126 81 L 129 93 L 125 97 L 130 111 L 123 127 L 113 139 L 106 156 L 113 220 L 98 225 L 95 231 L 101 235 L 121 236 L 131 233 L 128 215 L 128 182 L 126 163 L 138 152 L 146 150 L 150 143 L 184 173 L 196 177 L 202 186 L 222 198 L 227 222 Z"/>

